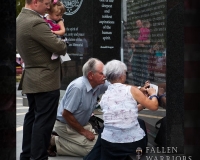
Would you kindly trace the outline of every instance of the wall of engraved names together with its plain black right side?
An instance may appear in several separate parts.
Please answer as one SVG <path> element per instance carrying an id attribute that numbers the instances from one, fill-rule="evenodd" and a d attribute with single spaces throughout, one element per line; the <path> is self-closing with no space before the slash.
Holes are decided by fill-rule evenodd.
<path id="1" fill-rule="evenodd" d="M 143 85 L 146 80 L 157 85 L 165 84 L 167 134 L 163 147 L 176 147 L 174 154 L 183 154 L 183 2 L 123 2 L 123 55 L 128 66 L 127 82 L 136 86 Z M 146 39 L 142 40 L 140 36 L 144 31 Z M 153 113 L 148 116 L 156 118 Z"/>

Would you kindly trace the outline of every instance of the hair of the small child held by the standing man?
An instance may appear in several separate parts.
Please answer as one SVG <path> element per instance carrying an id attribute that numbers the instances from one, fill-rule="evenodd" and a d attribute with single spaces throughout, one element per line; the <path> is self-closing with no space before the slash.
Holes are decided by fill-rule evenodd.
<path id="1" fill-rule="evenodd" d="M 51 14 L 54 12 L 58 12 L 59 14 L 63 15 L 65 11 L 66 9 L 62 2 L 60 2 L 59 0 L 52 0 L 48 13 Z"/>

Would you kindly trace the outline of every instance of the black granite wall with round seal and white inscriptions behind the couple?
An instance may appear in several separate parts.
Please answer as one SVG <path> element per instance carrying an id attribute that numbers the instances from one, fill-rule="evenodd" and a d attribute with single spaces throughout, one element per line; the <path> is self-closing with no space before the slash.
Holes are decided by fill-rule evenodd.
<path id="1" fill-rule="evenodd" d="M 120 59 L 121 2 L 114 0 L 62 0 L 71 61 L 64 62 L 61 89 L 82 75 L 82 66 L 95 57 L 106 63 Z"/>

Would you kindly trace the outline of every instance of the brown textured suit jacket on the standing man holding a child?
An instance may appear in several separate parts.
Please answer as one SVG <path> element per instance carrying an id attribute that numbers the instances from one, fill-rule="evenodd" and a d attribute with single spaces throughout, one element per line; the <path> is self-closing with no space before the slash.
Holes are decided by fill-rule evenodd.
<path id="1" fill-rule="evenodd" d="M 44 19 L 33 10 L 23 8 L 16 19 L 17 50 L 25 69 L 19 85 L 22 93 L 39 93 L 60 88 L 60 58 L 51 60 L 52 53 L 65 55 L 67 46 L 53 34 Z"/>

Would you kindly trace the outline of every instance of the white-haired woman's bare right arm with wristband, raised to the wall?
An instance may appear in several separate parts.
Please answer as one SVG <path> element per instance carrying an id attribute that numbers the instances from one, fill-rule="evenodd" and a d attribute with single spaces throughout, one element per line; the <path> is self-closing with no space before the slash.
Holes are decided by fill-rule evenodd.
<path id="1" fill-rule="evenodd" d="M 147 93 L 151 97 L 149 99 L 146 97 L 140 90 L 138 90 L 137 87 L 132 86 L 131 87 L 131 94 L 134 97 L 134 99 L 141 104 L 142 106 L 145 106 L 146 108 L 150 110 L 157 110 L 158 109 L 158 99 L 156 96 L 156 91 L 154 88 L 147 88 Z"/>

